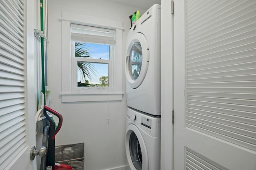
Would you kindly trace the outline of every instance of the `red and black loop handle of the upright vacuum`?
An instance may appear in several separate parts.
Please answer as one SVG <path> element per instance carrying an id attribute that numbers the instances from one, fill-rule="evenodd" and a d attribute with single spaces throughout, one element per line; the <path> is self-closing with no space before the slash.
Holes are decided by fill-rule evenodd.
<path id="1" fill-rule="evenodd" d="M 60 113 L 54 111 L 53 109 L 51 109 L 50 107 L 44 105 L 44 116 L 48 119 L 48 121 L 50 122 L 50 127 L 51 125 L 55 127 L 55 122 L 50 118 L 50 116 L 48 115 L 48 113 L 46 112 L 50 112 L 53 115 L 55 115 L 56 117 L 58 117 L 59 122 L 58 122 L 58 126 L 55 128 L 54 132 L 52 133 L 52 135 L 49 135 L 50 137 L 52 137 L 53 139 L 55 139 L 55 135 L 60 131 L 60 128 L 62 126 L 62 122 L 63 122 L 63 118 L 62 115 L 60 115 Z"/>

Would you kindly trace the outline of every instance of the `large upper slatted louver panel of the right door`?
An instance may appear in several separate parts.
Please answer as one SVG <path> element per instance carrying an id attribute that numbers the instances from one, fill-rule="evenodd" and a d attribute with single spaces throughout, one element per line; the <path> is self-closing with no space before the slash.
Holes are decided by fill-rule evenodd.
<path id="1" fill-rule="evenodd" d="M 256 1 L 186 2 L 186 126 L 256 151 Z"/>

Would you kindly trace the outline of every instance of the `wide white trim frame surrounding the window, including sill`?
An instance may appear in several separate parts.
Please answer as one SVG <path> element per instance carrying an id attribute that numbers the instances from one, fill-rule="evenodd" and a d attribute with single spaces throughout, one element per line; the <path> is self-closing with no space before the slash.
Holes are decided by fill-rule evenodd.
<path id="1" fill-rule="evenodd" d="M 74 14 L 70 12 L 62 12 L 61 21 L 61 99 L 62 102 L 81 102 L 81 101 L 119 101 L 122 100 L 124 92 L 122 91 L 122 32 L 124 28 L 123 23 L 116 20 L 100 18 L 95 16 L 87 16 L 81 14 Z M 95 26 L 102 28 L 109 28 L 116 30 L 116 45 L 115 45 L 115 59 L 112 67 L 113 89 L 111 91 L 95 92 L 95 93 L 74 93 L 72 92 L 72 69 L 71 62 L 71 36 L 70 24 L 81 24 L 87 26 Z M 120 63 L 120 64 L 119 64 Z"/>

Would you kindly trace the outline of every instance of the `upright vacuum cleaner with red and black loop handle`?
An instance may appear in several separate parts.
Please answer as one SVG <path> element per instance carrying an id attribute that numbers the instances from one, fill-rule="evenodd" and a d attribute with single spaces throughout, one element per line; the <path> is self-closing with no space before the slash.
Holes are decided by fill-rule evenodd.
<path id="1" fill-rule="evenodd" d="M 58 117 L 59 122 L 58 126 L 55 128 L 55 122 L 48 115 L 48 112 L 52 115 Z M 44 116 L 50 122 L 49 127 L 49 137 L 48 137 L 48 149 L 46 153 L 46 166 L 52 166 L 52 170 L 72 170 L 71 166 L 65 164 L 55 163 L 55 135 L 59 132 L 62 125 L 62 115 L 60 113 L 54 111 L 50 107 L 44 106 Z"/>

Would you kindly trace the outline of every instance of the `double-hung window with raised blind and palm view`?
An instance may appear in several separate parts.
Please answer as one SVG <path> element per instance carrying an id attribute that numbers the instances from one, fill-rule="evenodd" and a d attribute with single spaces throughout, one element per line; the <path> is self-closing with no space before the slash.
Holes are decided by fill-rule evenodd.
<path id="1" fill-rule="evenodd" d="M 74 91 L 113 88 L 115 30 L 71 24 Z"/>

